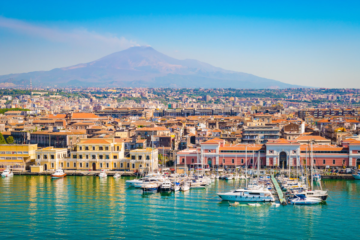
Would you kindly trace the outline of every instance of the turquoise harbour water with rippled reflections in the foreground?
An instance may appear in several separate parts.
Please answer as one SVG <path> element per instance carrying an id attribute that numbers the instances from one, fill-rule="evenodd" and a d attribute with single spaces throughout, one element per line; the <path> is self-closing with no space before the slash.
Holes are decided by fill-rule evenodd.
<path id="1" fill-rule="evenodd" d="M 108 177 L 1 178 L 2 239 L 340 239 L 357 234 L 360 181 L 324 180 L 326 204 L 229 207 L 218 191 L 149 193 Z"/>

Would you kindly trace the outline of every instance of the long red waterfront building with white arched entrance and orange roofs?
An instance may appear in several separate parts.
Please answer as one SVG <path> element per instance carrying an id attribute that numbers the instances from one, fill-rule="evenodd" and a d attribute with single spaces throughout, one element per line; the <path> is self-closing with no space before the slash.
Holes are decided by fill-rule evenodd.
<path id="1" fill-rule="evenodd" d="M 309 136 L 310 137 L 310 136 Z M 315 136 L 312 136 L 315 137 Z M 226 144 L 223 139 L 211 139 L 197 148 L 184 149 L 176 154 L 176 165 L 207 163 L 216 167 L 252 166 L 259 158 L 266 168 L 310 166 L 311 145 L 296 140 L 277 139 L 265 144 Z M 346 139 L 342 145 L 312 144 L 313 163 L 316 167 L 359 167 L 360 141 Z M 202 156 L 202 159 L 201 157 Z M 255 162 L 254 162 L 255 161 Z"/>

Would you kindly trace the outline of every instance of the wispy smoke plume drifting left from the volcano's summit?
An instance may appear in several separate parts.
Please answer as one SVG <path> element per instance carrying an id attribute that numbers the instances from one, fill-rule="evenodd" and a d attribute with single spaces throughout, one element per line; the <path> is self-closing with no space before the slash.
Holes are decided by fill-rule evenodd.
<path id="1" fill-rule="evenodd" d="M 86 29 L 74 29 L 69 32 L 49 28 L 36 26 L 27 22 L 23 22 L 17 19 L 5 18 L 0 16 L 0 27 L 8 28 L 13 31 L 48 39 L 54 42 L 66 42 L 76 45 L 105 45 L 111 49 L 123 50 L 132 46 L 140 46 L 136 41 L 128 40 L 125 37 L 117 37 L 108 35 L 101 35 L 96 32 L 89 32 Z"/>

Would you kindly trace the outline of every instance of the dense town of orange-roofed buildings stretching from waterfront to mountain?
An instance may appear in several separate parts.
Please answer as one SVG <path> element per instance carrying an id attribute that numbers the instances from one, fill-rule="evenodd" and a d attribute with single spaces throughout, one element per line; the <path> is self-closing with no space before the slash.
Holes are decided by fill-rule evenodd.
<path id="1" fill-rule="evenodd" d="M 278 168 L 310 151 L 319 167 L 355 167 L 359 92 L 0 89 L 0 168 L 139 171 L 162 160 L 231 168 L 255 159 Z"/>

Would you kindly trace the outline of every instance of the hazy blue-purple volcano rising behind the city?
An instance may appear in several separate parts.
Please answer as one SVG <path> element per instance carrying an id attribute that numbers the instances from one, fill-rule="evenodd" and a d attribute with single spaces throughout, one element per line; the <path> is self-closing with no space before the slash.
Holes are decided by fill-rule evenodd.
<path id="1" fill-rule="evenodd" d="M 203 87 L 278 89 L 301 87 L 229 71 L 193 59 L 179 60 L 150 46 L 130 47 L 93 62 L 50 71 L 0 76 L 0 86 Z"/>

